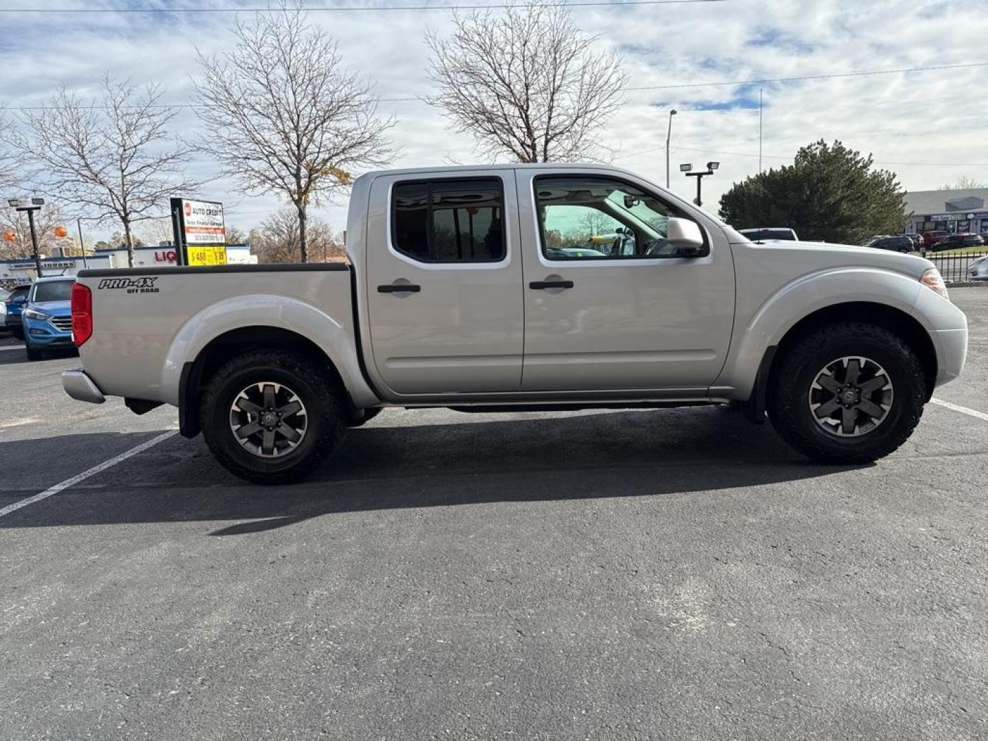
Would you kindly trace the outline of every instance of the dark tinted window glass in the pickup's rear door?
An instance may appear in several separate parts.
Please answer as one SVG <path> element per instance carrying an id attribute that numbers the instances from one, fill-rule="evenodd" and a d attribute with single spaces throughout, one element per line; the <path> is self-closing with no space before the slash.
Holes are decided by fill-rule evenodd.
<path id="1" fill-rule="evenodd" d="M 421 263 L 499 263 L 507 255 L 500 178 L 395 183 L 391 245 Z"/>

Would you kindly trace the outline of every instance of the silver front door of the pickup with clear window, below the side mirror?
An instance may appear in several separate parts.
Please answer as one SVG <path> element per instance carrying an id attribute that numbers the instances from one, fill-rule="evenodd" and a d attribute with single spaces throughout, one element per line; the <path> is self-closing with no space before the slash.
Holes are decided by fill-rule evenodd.
<path id="1" fill-rule="evenodd" d="M 636 179 L 517 171 L 526 390 L 693 389 L 724 365 L 734 264 L 721 230 Z M 667 242 L 690 217 L 705 254 Z"/>

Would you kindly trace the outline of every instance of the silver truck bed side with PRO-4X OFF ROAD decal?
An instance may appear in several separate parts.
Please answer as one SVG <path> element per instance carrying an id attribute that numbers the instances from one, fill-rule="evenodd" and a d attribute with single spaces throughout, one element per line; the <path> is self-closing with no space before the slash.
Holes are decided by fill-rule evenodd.
<path id="1" fill-rule="evenodd" d="M 94 317 L 80 355 L 108 395 L 176 404 L 181 364 L 245 317 L 319 344 L 318 327 L 298 326 L 308 315 L 354 341 L 345 263 L 89 270 L 78 282 L 92 290 Z"/>

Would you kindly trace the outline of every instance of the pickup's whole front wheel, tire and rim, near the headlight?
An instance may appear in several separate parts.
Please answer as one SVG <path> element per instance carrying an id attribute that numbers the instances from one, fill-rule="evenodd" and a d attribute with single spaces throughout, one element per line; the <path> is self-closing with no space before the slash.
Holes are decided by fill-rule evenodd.
<path id="1" fill-rule="evenodd" d="M 816 460 L 863 463 L 892 453 L 923 414 L 923 366 L 887 329 L 840 322 L 798 338 L 773 371 L 769 419 Z"/>

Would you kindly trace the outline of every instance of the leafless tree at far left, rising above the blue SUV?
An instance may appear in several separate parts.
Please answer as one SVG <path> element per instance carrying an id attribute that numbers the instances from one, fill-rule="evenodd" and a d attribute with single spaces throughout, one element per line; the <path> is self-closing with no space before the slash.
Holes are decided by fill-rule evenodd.
<path id="1" fill-rule="evenodd" d="M 120 222 L 128 265 L 131 224 L 160 217 L 170 196 L 199 186 L 182 172 L 190 149 L 169 131 L 176 114 L 162 106 L 162 95 L 156 85 L 138 91 L 109 75 L 97 103 L 63 87 L 43 110 L 26 113 L 26 133 L 13 137 L 43 173 L 46 193 L 84 207 L 97 222 Z"/>

